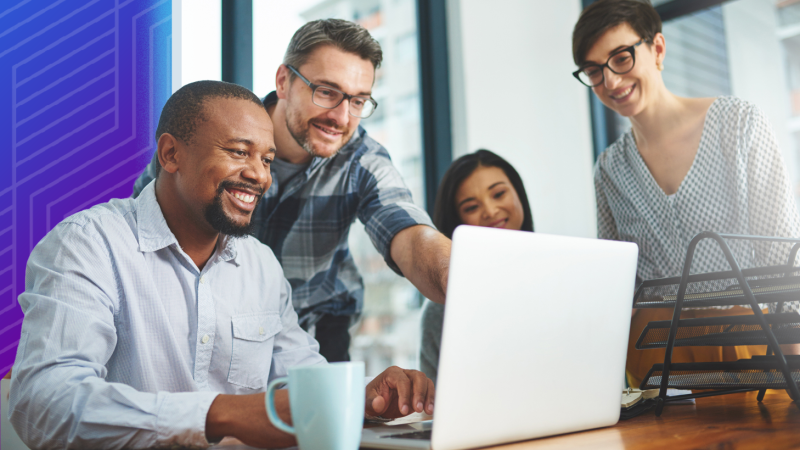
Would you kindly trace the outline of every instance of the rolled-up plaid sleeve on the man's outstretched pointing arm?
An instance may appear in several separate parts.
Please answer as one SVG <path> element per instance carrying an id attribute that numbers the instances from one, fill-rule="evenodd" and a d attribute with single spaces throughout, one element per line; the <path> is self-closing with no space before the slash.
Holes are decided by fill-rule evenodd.
<path id="1" fill-rule="evenodd" d="M 386 264 L 402 275 L 391 256 L 391 243 L 397 233 L 414 225 L 433 222 L 428 213 L 414 204 L 411 191 L 383 148 L 367 150 L 353 166 L 353 179 L 360 198 L 358 219 Z"/>

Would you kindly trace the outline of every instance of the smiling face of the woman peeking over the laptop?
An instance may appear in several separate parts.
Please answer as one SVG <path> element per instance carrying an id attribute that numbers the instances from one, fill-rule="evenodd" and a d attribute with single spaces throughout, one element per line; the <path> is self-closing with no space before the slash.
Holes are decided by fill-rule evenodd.
<path id="1" fill-rule="evenodd" d="M 455 201 L 461 222 L 466 225 L 522 228 L 522 202 L 499 167 L 478 166 L 458 187 Z"/>

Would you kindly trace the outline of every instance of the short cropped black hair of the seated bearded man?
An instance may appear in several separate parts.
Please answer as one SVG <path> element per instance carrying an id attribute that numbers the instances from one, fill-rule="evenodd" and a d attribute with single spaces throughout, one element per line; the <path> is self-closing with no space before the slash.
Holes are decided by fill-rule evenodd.
<path id="1" fill-rule="evenodd" d="M 158 119 L 156 143 L 164 133 L 169 133 L 185 143 L 191 143 L 198 122 L 208 120 L 203 114 L 204 103 L 212 98 L 238 98 L 264 107 L 256 94 L 238 84 L 211 80 L 195 81 L 175 91 L 167 100 Z M 156 175 L 160 170 L 159 163 L 156 165 Z"/>

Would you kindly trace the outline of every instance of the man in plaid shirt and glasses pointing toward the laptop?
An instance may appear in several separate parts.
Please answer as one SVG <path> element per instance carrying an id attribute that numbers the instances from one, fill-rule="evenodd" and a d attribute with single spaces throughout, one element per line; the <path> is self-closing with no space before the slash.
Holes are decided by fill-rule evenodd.
<path id="1" fill-rule="evenodd" d="M 277 89 L 264 98 L 278 153 L 253 235 L 280 261 L 301 326 L 331 362 L 350 359 L 348 328 L 363 305 L 364 283 L 348 247 L 356 218 L 389 267 L 424 296 L 443 303 L 446 291 L 450 241 L 359 125 L 377 107 L 371 93 L 382 57 L 357 24 L 309 22 L 292 37 Z M 154 158 L 135 196 L 157 170 Z"/>

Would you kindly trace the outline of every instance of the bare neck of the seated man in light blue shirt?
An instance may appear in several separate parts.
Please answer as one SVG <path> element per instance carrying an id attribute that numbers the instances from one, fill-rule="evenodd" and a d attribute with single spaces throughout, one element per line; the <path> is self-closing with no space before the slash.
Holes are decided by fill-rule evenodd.
<path id="1" fill-rule="evenodd" d="M 198 213 L 190 210 L 181 201 L 175 175 L 162 173 L 156 180 L 156 201 L 161 207 L 164 220 L 167 221 L 178 245 L 192 259 L 198 269 L 203 270 L 217 246 L 219 232 L 211 228 L 205 217 L 197 217 Z"/>

